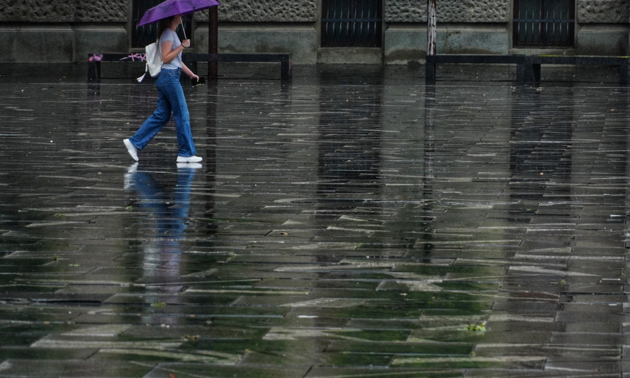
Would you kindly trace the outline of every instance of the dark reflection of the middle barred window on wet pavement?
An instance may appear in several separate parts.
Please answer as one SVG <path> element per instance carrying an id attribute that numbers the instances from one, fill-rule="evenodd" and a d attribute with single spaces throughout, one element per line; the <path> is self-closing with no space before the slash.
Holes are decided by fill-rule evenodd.
<path id="1" fill-rule="evenodd" d="M 380 67 L 356 77 L 320 72 L 318 178 L 314 222 L 322 240 L 367 243 L 381 218 L 383 75 Z M 355 83 L 356 81 L 356 83 Z M 362 85 L 356 85 L 356 84 Z M 365 86 L 364 83 L 373 83 Z M 348 217 L 352 217 L 349 219 Z M 365 225 L 372 224 L 372 226 Z M 345 231 L 345 230 L 354 231 Z M 330 251 L 330 255 L 338 255 Z M 328 253 L 316 261 L 336 261 Z"/>

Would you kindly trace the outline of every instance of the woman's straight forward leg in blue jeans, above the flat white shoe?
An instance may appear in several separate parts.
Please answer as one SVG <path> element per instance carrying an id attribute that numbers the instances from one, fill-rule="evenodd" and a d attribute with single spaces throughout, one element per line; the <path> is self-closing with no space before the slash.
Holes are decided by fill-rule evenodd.
<path id="1" fill-rule="evenodd" d="M 193 142 L 193 134 L 190 130 L 190 114 L 188 113 L 188 105 L 184 97 L 184 90 L 181 88 L 180 74 L 172 74 L 169 76 L 168 90 L 164 91 L 168 96 L 168 101 L 173 109 L 173 118 L 175 118 L 176 134 L 177 134 L 177 154 L 178 156 L 193 156 L 197 153 L 195 143 Z"/>

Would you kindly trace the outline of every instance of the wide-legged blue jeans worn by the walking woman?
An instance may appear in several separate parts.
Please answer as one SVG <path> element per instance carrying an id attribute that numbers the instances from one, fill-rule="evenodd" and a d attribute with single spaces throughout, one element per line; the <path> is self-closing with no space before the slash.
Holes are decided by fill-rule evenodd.
<path id="1" fill-rule="evenodd" d="M 179 156 L 193 156 L 197 153 L 190 131 L 190 115 L 184 98 L 184 90 L 180 83 L 181 69 L 163 69 L 156 79 L 157 109 L 140 126 L 129 140 L 142 151 L 156 134 L 171 119 L 175 117 L 177 134 L 177 154 Z"/>

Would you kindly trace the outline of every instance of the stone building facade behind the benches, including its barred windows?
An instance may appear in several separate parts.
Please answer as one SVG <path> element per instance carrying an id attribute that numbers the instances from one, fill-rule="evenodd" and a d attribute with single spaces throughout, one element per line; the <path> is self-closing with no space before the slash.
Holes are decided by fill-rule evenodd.
<path id="1" fill-rule="evenodd" d="M 131 33 L 139 1 L 0 0 L 0 61 L 81 62 L 89 52 L 140 51 Z M 426 54 L 426 0 L 221 3 L 219 52 L 291 52 L 294 64 L 407 64 Z M 549 31 L 558 18 L 562 31 Z M 437 21 L 438 53 L 629 54 L 630 0 L 437 0 Z M 194 49 L 206 52 L 207 11 L 191 24 Z M 561 45 L 549 43 L 556 37 Z"/>

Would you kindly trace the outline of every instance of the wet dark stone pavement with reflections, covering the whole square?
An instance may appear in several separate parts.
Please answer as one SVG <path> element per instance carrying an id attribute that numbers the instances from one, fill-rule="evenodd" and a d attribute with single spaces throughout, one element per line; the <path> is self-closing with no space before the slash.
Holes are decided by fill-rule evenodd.
<path id="1" fill-rule="evenodd" d="M 195 166 L 84 69 L 0 67 L 0 377 L 630 377 L 618 72 L 226 74 Z"/>

